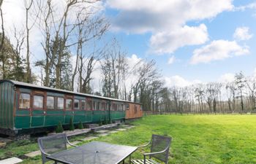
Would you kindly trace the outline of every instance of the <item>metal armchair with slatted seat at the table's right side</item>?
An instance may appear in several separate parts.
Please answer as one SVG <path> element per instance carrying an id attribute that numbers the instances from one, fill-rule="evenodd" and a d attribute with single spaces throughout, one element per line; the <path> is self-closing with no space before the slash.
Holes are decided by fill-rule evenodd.
<path id="1" fill-rule="evenodd" d="M 169 156 L 169 148 L 172 138 L 168 136 L 159 136 L 159 135 L 152 135 L 151 141 L 148 144 L 138 147 L 146 147 L 151 143 L 151 152 L 144 153 L 143 160 L 130 160 L 130 162 L 134 164 L 158 164 L 156 161 L 152 160 L 151 157 L 156 158 L 164 162 L 165 164 L 168 163 L 168 156 Z M 149 156 L 149 159 L 146 159 L 146 156 Z"/>

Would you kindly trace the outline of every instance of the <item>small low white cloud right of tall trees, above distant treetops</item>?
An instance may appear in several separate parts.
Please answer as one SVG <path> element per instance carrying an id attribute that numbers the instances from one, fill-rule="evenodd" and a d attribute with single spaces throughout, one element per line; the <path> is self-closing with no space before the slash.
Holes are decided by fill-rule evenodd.
<path id="1" fill-rule="evenodd" d="M 189 81 L 187 79 L 184 79 L 183 77 L 180 77 L 178 75 L 172 76 L 172 77 L 164 77 L 165 87 L 187 87 L 189 85 L 194 85 L 201 83 L 200 80 L 195 79 L 193 81 Z"/>

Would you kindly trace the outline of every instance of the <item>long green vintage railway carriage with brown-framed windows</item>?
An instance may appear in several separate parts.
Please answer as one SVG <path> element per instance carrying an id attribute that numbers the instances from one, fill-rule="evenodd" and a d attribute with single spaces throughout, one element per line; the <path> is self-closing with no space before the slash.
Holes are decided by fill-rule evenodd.
<path id="1" fill-rule="evenodd" d="M 0 133 L 16 136 L 53 129 L 61 122 L 124 120 L 127 104 L 114 98 L 0 80 Z"/>

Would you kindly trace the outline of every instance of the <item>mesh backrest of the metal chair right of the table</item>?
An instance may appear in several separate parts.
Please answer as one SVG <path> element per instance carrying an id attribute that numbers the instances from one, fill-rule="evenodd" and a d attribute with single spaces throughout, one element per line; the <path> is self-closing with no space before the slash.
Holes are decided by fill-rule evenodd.
<path id="1" fill-rule="evenodd" d="M 169 136 L 159 136 L 153 134 L 151 142 L 151 152 L 161 152 L 165 148 L 167 148 L 167 151 L 158 155 L 151 155 L 150 157 L 155 157 L 158 160 L 162 160 L 163 162 L 167 163 L 171 140 L 172 138 Z"/>

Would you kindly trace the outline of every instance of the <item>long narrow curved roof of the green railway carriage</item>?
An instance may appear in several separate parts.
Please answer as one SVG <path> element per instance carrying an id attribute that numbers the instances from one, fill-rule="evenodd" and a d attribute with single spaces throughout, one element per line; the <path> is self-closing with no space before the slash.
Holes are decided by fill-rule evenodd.
<path id="1" fill-rule="evenodd" d="M 103 97 L 103 96 L 99 96 L 99 95 L 91 95 L 91 94 L 87 94 L 87 93 L 76 93 L 76 92 L 73 92 L 73 91 L 56 89 L 56 88 L 53 88 L 53 87 L 44 87 L 44 86 L 39 86 L 39 85 L 33 85 L 33 84 L 26 83 L 26 82 L 18 82 L 18 81 L 10 80 L 10 79 L 1 79 L 0 83 L 1 82 L 10 82 L 10 83 L 12 83 L 12 85 L 15 85 L 15 86 L 18 86 L 18 87 L 37 88 L 37 89 L 40 89 L 40 90 L 48 90 L 48 91 L 54 91 L 54 92 L 58 92 L 58 93 L 69 93 L 69 94 L 74 94 L 74 95 L 83 95 L 83 96 L 86 96 L 86 97 L 100 98 L 100 99 L 109 100 L 109 101 L 119 101 L 119 102 L 140 104 L 140 103 L 137 103 L 137 102 L 125 101 L 125 100 L 120 100 L 120 99 L 116 99 L 116 98 L 107 98 L 107 97 Z"/>

